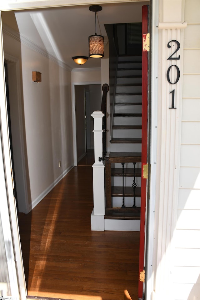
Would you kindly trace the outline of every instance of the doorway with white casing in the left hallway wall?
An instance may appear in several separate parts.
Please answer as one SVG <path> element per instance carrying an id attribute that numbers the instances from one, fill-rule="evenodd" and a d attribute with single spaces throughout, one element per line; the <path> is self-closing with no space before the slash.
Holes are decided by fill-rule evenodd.
<path id="1" fill-rule="evenodd" d="M 26 158 L 24 148 L 23 106 L 18 58 L 4 54 L 7 87 L 8 124 L 15 196 L 19 212 L 28 212 Z"/>

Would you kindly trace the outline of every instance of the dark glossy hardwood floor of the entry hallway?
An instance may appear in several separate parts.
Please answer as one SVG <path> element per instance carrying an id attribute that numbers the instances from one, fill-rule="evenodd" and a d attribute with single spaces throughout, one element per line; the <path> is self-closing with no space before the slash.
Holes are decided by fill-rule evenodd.
<path id="1" fill-rule="evenodd" d="M 90 152 L 19 217 L 28 296 L 138 299 L 139 232 L 91 231 Z"/>

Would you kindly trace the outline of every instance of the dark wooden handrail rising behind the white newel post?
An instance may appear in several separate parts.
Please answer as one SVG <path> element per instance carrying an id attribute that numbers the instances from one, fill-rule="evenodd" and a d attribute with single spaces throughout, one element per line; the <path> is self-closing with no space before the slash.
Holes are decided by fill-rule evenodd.
<path id="1" fill-rule="evenodd" d="M 104 83 L 102 86 L 103 95 L 102 95 L 102 103 L 101 103 L 101 111 L 104 113 L 103 117 L 103 160 L 106 155 L 106 100 L 107 100 L 107 93 L 109 91 L 109 86 L 107 83 Z"/>

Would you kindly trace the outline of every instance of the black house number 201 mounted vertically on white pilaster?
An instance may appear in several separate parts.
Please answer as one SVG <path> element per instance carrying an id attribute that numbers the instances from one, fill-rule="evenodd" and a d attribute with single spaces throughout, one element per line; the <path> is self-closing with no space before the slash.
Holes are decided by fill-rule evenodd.
<path id="1" fill-rule="evenodd" d="M 180 59 L 180 55 L 178 55 L 178 57 L 174 57 L 174 54 L 175 54 L 176 52 L 178 52 L 178 50 L 180 49 L 180 43 L 179 43 L 178 41 L 176 41 L 176 40 L 171 40 L 171 41 L 169 41 L 169 42 L 168 42 L 168 48 L 171 48 L 170 43 L 173 43 L 173 42 L 176 43 L 176 46 L 177 46 L 177 47 L 176 47 L 175 51 L 172 53 L 172 55 L 170 55 L 170 56 L 168 57 L 167 60 L 179 60 L 179 59 Z M 174 79 L 173 82 L 172 82 L 172 80 L 170 79 L 170 70 L 172 70 L 172 68 L 175 68 L 175 69 L 176 69 L 176 77 L 175 77 L 175 79 Z M 178 83 L 179 78 L 180 78 L 180 70 L 179 70 L 178 66 L 176 66 L 176 65 L 171 65 L 171 66 L 169 66 L 169 68 L 168 68 L 168 70 L 167 70 L 167 80 L 168 80 L 168 83 L 170 83 L 170 84 L 176 84 L 176 83 Z M 170 94 L 172 94 L 172 105 L 171 105 L 170 108 L 176 108 L 176 107 L 174 107 L 174 92 L 175 92 L 174 89 L 170 92 Z"/>

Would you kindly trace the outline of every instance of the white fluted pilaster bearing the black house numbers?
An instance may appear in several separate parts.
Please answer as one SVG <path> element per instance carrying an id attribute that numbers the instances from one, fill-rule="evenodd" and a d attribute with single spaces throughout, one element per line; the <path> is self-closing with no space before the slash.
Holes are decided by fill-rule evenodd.
<path id="1" fill-rule="evenodd" d="M 154 285 L 150 299 L 174 299 L 174 230 L 178 209 L 183 90 L 184 1 L 159 1 L 158 144 L 155 189 Z M 180 77 L 179 77 L 180 75 Z M 173 103 L 174 100 L 174 103 Z M 153 99 L 152 99 L 153 101 Z M 155 293 L 155 294 L 154 294 Z"/>

